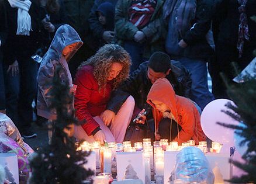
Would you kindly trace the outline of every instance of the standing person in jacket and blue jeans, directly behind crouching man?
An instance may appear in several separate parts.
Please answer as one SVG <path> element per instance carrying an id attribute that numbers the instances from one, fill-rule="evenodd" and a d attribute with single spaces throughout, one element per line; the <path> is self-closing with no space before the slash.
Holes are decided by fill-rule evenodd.
<path id="1" fill-rule="evenodd" d="M 207 40 L 213 15 L 212 0 L 167 0 L 163 16 L 168 25 L 165 49 L 191 72 L 192 97 L 200 108 L 214 100 L 207 84 L 206 63 L 213 55 Z"/>

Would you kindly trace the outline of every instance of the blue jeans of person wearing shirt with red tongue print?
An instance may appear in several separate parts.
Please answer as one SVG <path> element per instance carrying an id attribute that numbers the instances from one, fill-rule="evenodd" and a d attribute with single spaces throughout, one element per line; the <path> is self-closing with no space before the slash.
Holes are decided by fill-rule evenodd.
<path id="1" fill-rule="evenodd" d="M 132 65 L 130 67 L 130 74 L 139 68 L 139 65 L 146 61 L 143 58 L 144 44 L 135 41 L 125 41 L 123 48 L 130 54 Z"/>

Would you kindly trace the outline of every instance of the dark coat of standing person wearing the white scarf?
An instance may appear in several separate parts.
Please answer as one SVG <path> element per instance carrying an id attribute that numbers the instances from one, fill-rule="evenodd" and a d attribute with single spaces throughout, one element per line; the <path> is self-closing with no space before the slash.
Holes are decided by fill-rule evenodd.
<path id="1" fill-rule="evenodd" d="M 12 8 L 7 0 L 2 2 L 5 6 L 8 27 L 5 45 L 2 48 L 6 65 L 11 65 L 15 60 L 29 60 L 39 47 L 39 4 L 36 0 L 31 0 L 31 2 L 29 15 L 31 17 L 32 31 L 30 31 L 30 36 L 16 35 L 18 8 Z"/>

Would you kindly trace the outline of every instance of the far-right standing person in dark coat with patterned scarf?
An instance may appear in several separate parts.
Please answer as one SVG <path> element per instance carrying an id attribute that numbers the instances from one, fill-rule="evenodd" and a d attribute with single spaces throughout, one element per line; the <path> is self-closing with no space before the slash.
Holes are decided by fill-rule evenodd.
<path id="1" fill-rule="evenodd" d="M 213 17 L 216 60 L 210 64 L 209 70 L 216 98 L 229 98 L 220 72 L 231 82 L 236 77 L 231 62 L 235 62 L 238 69 L 243 70 L 255 57 L 256 23 L 251 19 L 254 15 L 255 0 L 222 0 L 216 3 Z"/>

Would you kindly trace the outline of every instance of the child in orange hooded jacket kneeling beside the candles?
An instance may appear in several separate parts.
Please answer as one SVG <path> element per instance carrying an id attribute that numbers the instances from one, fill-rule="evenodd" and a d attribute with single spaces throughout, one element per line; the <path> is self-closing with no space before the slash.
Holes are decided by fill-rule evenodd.
<path id="1" fill-rule="evenodd" d="M 176 95 L 167 79 L 157 79 L 154 82 L 148 93 L 147 103 L 154 108 L 157 127 L 155 139 L 171 137 L 171 141 L 177 141 L 179 144 L 191 139 L 195 140 L 196 144 L 206 140 L 200 125 L 200 114 L 195 105 L 190 99 Z M 174 121 L 177 122 L 177 127 L 174 127 Z"/>

